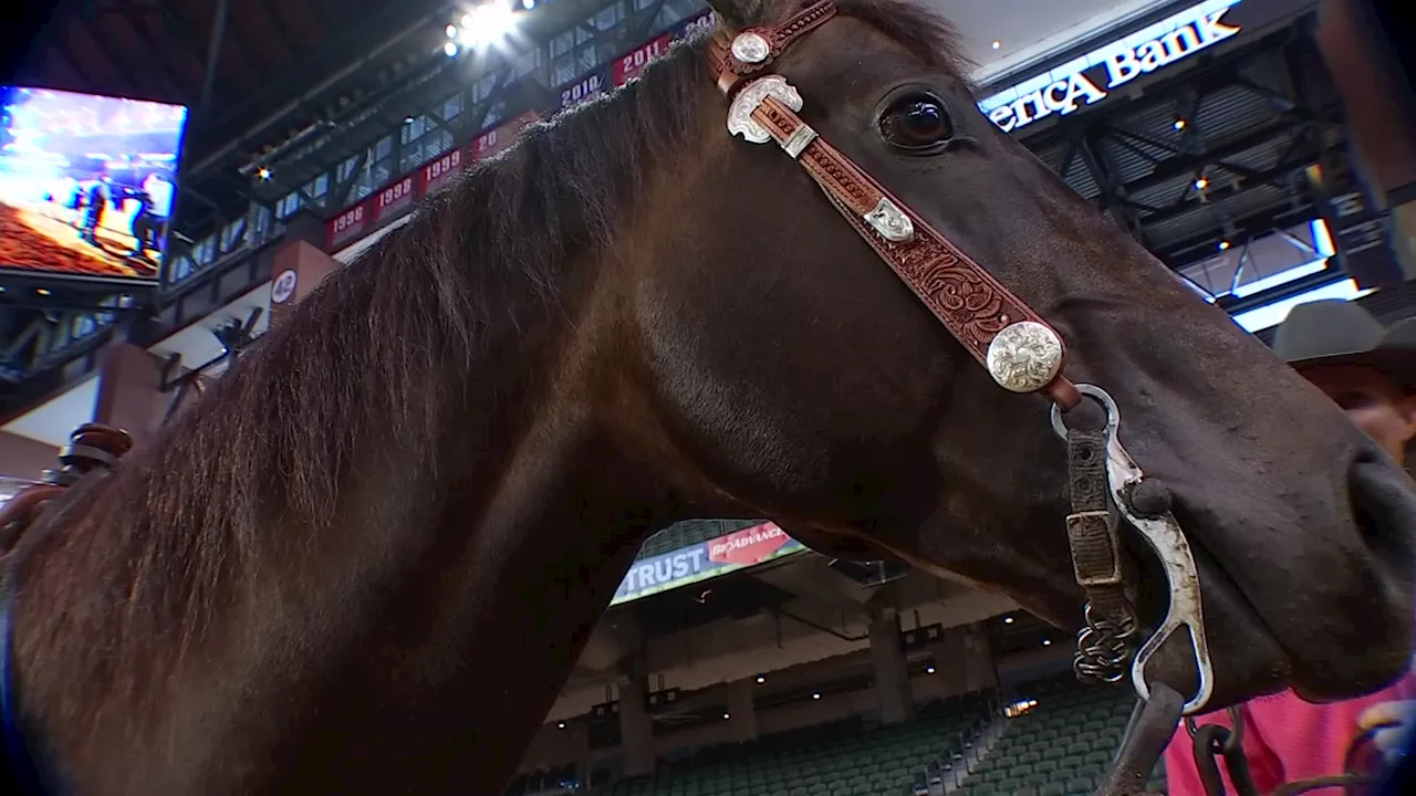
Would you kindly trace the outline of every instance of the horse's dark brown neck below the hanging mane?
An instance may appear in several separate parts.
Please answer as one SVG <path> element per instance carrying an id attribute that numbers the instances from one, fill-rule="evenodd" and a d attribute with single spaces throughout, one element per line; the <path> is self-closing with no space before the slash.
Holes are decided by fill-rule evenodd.
<path id="1" fill-rule="evenodd" d="M 539 370 L 573 348 L 542 346 Z M 498 793 L 666 518 L 654 474 L 554 381 L 498 385 L 494 412 L 446 391 L 433 450 L 365 418 L 333 521 L 262 528 L 200 629 L 129 622 L 143 575 L 93 554 L 125 533 L 101 499 L 24 572 L 17 684 L 48 768 L 82 793 Z M 143 453 L 123 477 L 161 476 Z M 119 671 L 106 639 L 150 660 Z"/>

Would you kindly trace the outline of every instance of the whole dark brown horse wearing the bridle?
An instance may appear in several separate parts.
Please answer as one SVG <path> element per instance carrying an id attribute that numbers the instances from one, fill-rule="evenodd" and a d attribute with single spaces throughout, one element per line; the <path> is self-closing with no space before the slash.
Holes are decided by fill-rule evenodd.
<path id="1" fill-rule="evenodd" d="M 729 137 L 704 47 L 433 197 L 21 541 L 10 686 L 55 790 L 497 793 L 643 537 L 688 517 L 1078 623 L 1045 402 L 990 381 L 790 157 Z M 918 8 L 841 0 L 773 71 L 1112 391 L 1195 548 L 1212 704 L 1392 680 L 1402 473 L 988 123 L 957 51 Z"/>

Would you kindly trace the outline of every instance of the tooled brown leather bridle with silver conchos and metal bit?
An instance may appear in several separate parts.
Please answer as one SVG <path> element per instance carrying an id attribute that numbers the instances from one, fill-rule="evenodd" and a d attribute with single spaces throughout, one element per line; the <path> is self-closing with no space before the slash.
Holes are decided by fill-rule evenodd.
<path id="1" fill-rule="evenodd" d="M 728 132 L 750 143 L 776 142 L 1000 387 L 1051 399 L 1052 426 L 1068 445 L 1072 497 L 1068 540 L 1076 581 L 1087 598 L 1086 626 L 1078 636 L 1073 669 L 1083 680 L 1114 683 L 1126 677 L 1130 660 L 1131 684 L 1144 705 L 1153 695 L 1146 664 L 1165 640 L 1181 629 L 1188 630 L 1199 674 L 1195 694 L 1182 704 L 1167 698 L 1150 705 L 1154 715 L 1148 721 L 1170 722 L 1174 731 L 1181 714 L 1204 710 L 1214 670 L 1201 610 L 1199 572 L 1170 510 L 1170 494 L 1146 477 L 1117 439 L 1120 412 L 1112 397 L 1099 387 L 1066 378 L 1062 336 L 799 116 L 804 106 L 801 95 L 770 69 L 796 41 L 835 13 L 833 0 L 820 0 L 780 24 L 736 33 L 726 30 L 719 18 L 708 45 L 708 64 L 718 89 L 729 101 Z M 1090 412 L 1090 423 L 1087 412 L 1073 412 L 1083 398 L 1104 411 L 1104 422 L 1095 419 L 1096 412 Z M 1170 588 L 1165 619 L 1138 650 L 1137 618 L 1123 575 L 1121 520 L 1155 551 Z M 1157 684 L 1157 688 L 1165 687 Z M 1163 708 L 1161 703 L 1171 707 Z M 1129 738 L 1147 735 L 1134 732 L 1143 714 L 1144 710 L 1137 711 Z M 1154 732 L 1148 735 L 1160 738 Z M 1146 772 L 1167 741 L 1168 737 L 1155 746 L 1153 738 L 1141 744 L 1144 749 L 1136 749 L 1137 755 L 1153 755 Z M 1123 745 L 1116 769 L 1127 768 L 1126 749 Z M 1130 768 L 1141 771 L 1140 765 Z M 1109 782 L 1114 779 L 1107 778 Z M 1144 786 L 1144 772 L 1140 779 L 1138 785 Z M 1133 785 L 1116 783 L 1107 790 L 1103 783 L 1103 792 L 1131 792 Z"/>

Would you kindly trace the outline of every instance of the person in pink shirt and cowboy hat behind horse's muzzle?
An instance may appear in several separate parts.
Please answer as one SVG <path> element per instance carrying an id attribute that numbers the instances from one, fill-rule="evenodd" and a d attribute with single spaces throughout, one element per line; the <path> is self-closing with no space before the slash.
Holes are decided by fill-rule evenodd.
<path id="1" fill-rule="evenodd" d="M 1327 392 L 1348 416 L 1396 462 L 1416 439 L 1416 319 L 1391 329 L 1355 303 L 1323 300 L 1293 307 L 1276 330 L 1274 353 Z M 1342 703 L 1313 704 L 1280 691 L 1238 707 L 1243 720 L 1243 751 L 1259 793 L 1323 776 L 1345 773 L 1354 742 L 1371 732 L 1376 749 L 1402 748 L 1416 712 L 1416 676 L 1408 673 L 1388 688 Z M 1197 722 L 1229 727 L 1226 711 Z M 1233 793 L 1219 765 L 1225 788 Z M 1184 725 L 1165 749 L 1170 796 L 1205 796 Z M 1311 790 L 1344 796 L 1340 786 Z"/>

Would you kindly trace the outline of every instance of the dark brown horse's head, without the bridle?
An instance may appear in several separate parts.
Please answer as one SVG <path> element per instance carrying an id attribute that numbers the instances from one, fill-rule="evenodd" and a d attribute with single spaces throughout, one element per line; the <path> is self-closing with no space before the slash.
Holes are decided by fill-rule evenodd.
<path id="1" fill-rule="evenodd" d="M 804 4 L 714 7 L 741 33 Z M 1058 331 L 1072 380 L 1114 398 L 1121 442 L 1168 487 L 1194 550 L 1215 704 L 1283 686 L 1334 698 L 1392 680 L 1412 644 L 1405 474 L 990 123 L 954 52 L 926 16 L 843 0 L 770 72 L 821 140 Z M 702 92 L 726 110 L 709 81 Z M 1046 402 L 1000 388 L 787 144 L 745 143 L 718 113 L 701 123 L 701 149 L 646 200 L 657 242 L 632 258 L 650 402 L 673 449 L 694 452 L 724 508 L 1078 625 L 1066 446 Z M 967 283 L 939 289 L 971 300 Z M 1154 625 L 1165 578 L 1134 533 L 1124 548 Z M 1188 646 L 1165 644 L 1150 676 L 1194 691 Z"/>

